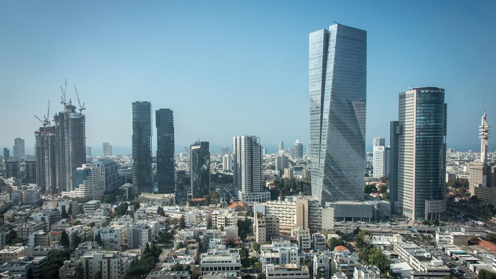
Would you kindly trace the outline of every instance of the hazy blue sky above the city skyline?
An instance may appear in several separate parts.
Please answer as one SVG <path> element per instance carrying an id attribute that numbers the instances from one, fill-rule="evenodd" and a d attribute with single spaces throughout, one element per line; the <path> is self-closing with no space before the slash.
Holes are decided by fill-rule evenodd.
<path id="1" fill-rule="evenodd" d="M 495 12 L 494 1 L 2 1 L 0 148 L 21 137 L 33 152 L 33 116 L 48 99 L 60 110 L 65 78 L 95 153 L 104 141 L 130 150 L 136 100 L 174 111 L 176 150 L 239 134 L 306 146 L 308 33 L 336 21 L 367 30 L 367 150 L 389 137 L 407 85 L 445 88 L 448 146 L 478 150 L 484 100 L 496 125 Z"/>

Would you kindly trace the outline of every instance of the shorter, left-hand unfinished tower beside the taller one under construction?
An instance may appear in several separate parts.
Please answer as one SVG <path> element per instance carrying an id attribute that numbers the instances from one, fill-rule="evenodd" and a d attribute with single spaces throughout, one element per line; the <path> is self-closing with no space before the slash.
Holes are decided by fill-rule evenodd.
<path id="1" fill-rule="evenodd" d="M 36 184 L 42 193 L 58 194 L 55 127 L 35 131 Z"/>

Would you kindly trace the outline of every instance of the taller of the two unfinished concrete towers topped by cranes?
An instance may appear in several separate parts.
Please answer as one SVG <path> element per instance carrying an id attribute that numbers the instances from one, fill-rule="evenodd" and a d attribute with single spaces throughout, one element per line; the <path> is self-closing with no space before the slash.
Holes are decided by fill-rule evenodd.
<path id="1" fill-rule="evenodd" d="M 74 170 L 86 164 L 86 117 L 71 103 L 53 116 L 55 122 L 57 184 L 59 191 L 73 188 Z"/>

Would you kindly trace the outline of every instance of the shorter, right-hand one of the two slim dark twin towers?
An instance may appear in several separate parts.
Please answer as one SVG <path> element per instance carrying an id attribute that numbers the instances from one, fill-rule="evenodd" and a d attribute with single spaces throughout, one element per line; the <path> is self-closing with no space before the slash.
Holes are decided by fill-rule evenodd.
<path id="1" fill-rule="evenodd" d="M 170 109 L 155 111 L 157 126 L 157 182 L 159 193 L 174 193 L 174 115 Z M 210 168 L 210 166 L 209 166 Z"/>

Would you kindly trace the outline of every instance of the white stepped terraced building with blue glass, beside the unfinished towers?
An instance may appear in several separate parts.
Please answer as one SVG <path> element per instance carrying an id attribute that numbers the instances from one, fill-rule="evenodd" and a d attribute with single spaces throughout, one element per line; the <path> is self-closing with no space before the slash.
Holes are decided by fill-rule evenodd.
<path id="1" fill-rule="evenodd" d="M 104 185 L 100 168 L 93 164 L 83 164 L 76 168 L 72 177 L 74 183 L 71 191 L 63 191 L 62 197 L 100 199 L 103 197 Z"/>

